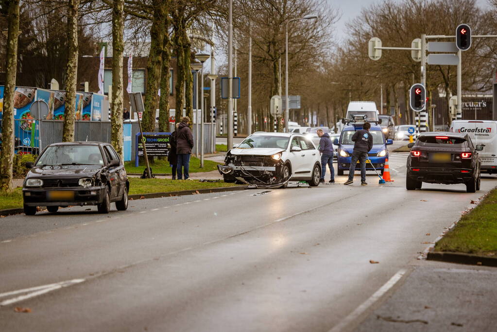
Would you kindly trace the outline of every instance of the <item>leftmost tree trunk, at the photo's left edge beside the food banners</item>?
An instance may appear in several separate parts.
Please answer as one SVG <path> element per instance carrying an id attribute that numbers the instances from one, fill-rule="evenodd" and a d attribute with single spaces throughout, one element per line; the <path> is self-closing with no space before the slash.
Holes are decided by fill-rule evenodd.
<path id="1" fill-rule="evenodd" d="M 8 2 L 7 61 L 3 95 L 2 142 L 0 152 L 0 191 L 12 190 L 14 158 L 14 91 L 17 72 L 17 37 L 19 34 L 19 0 Z"/>

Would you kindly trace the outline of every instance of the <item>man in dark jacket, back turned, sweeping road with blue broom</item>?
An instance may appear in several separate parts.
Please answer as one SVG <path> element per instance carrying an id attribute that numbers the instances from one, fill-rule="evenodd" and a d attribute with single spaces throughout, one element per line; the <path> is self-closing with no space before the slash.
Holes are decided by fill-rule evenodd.
<path id="1" fill-rule="evenodd" d="M 352 158 L 350 160 L 348 180 L 343 184 L 350 184 L 354 182 L 355 164 L 359 161 L 361 167 L 361 185 L 367 185 L 366 159 L 368 157 L 368 152 L 373 147 L 373 136 L 369 132 L 369 129 L 371 128 L 371 124 L 369 122 L 364 123 L 362 128 L 363 129 L 356 131 L 352 136 L 354 151 L 352 152 Z"/>

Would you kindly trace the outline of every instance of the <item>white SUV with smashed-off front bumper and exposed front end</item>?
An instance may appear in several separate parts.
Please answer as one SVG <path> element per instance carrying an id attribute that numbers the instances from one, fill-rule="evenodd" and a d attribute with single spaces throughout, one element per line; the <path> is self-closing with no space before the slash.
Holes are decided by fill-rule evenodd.
<path id="1" fill-rule="evenodd" d="M 257 132 L 228 151 L 225 165 L 218 165 L 218 169 L 225 182 L 284 188 L 288 181 L 307 181 L 317 186 L 321 156 L 304 135 Z"/>

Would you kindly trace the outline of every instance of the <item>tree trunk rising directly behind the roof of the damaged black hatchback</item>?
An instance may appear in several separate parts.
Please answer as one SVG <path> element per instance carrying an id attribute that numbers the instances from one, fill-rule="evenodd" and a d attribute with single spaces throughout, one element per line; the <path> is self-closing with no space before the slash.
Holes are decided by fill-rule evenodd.
<path id="1" fill-rule="evenodd" d="M 76 85 L 78 79 L 78 9 L 80 0 L 68 1 L 67 17 L 67 69 L 66 69 L 66 110 L 64 112 L 63 142 L 74 141 L 76 117 Z"/>

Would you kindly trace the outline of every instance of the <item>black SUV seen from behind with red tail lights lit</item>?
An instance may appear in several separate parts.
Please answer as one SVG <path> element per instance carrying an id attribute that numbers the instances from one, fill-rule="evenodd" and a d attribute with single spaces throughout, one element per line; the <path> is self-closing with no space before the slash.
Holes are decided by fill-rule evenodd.
<path id="1" fill-rule="evenodd" d="M 421 183 L 466 184 L 467 192 L 480 190 L 478 151 L 465 134 L 429 132 L 408 144 L 407 190 L 421 189 Z"/>

